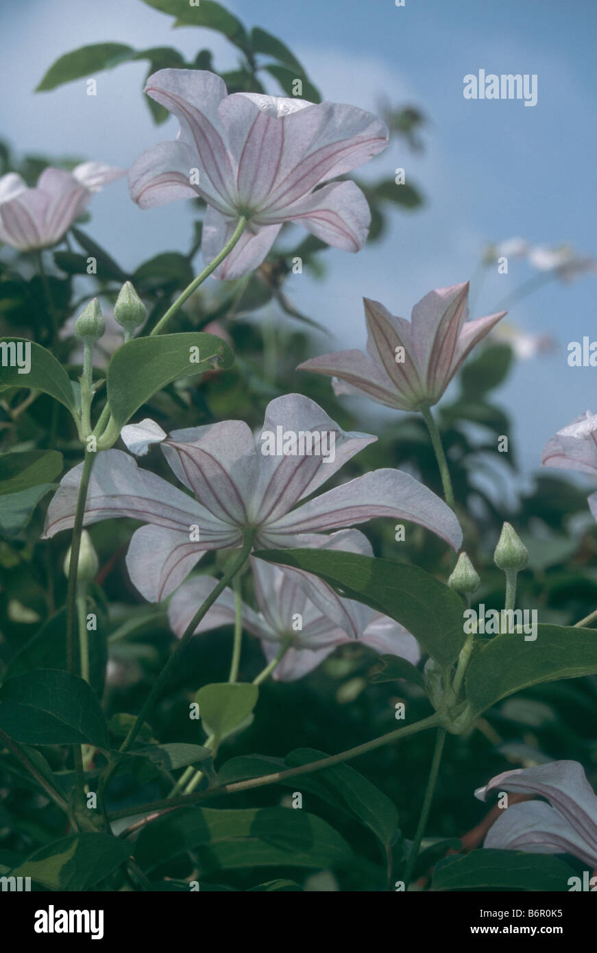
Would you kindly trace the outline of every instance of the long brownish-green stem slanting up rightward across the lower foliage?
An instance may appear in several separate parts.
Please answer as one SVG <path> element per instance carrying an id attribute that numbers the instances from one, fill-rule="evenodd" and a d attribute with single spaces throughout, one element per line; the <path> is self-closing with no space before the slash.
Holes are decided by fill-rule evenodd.
<path id="1" fill-rule="evenodd" d="M 274 774 L 264 775 L 261 778 L 249 778 L 247 781 L 233 781 L 229 784 L 222 784 L 220 787 L 209 787 L 206 791 L 198 791 L 196 794 L 190 795 L 181 795 L 171 800 L 165 799 L 163 801 L 149 801 L 149 803 L 146 804 L 132 804 L 123 810 L 110 813 L 109 820 L 118 821 L 120 818 L 128 818 L 131 814 L 149 814 L 151 811 L 159 811 L 163 807 L 168 809 L 183 807 L 187 804 L 197 803 L 197 801 L 221 797 L 224 794 L 237 794 L 239 791 L 249 791 L 256 787 L 267 787 L 269 784 L 289 781 L 290 778 L 298 778 L 301 775 L 312 774 L 314 771 L 321 771 L 323 768 L 332 767 L 334 764 L 341 764 L 343 761 L 358 758 L 360 755 L 366 755 L 369 751 L 374 751 L 376 748 L 391 744 L 393 741 L 408 738 L 409 735 L 416 735 L 419 731 L 425 731 L 427 728 L 435 728 L 439 724 L 440 717 L 436 713 L 421 721 L 415 721 L 413 724 L 396 728 L 395 731 L 390 731 L 387 735 L 382 735 L 380 738 L 366 741 L 365 744 L 357 744 L 355 748 L 348 748 L 348 751 L 342 751 L 339 755 L 330 755 L 328 758 L 309 761 L 308 764 L 301 764 L 299 767 L 289 768 L 287 771 L 276 771 Z"/>

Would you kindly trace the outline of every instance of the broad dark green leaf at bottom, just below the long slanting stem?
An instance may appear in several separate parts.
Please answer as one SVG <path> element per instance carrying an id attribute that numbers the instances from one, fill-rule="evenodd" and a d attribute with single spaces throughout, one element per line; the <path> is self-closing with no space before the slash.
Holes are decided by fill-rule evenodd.
<path id="1" fill-rule="evenodd" d="M 329 867 L 352 856 L 325 821 L 285 807 L 189 807 L 144 827 L 134 856 L 152 870 L 193 850 L 203 874 L 243 867 Z"/>

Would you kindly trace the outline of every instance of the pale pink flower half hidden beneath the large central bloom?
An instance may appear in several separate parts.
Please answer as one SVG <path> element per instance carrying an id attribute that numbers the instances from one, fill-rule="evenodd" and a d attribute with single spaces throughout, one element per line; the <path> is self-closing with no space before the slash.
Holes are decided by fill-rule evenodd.
<path id="1" fill-rule="evenodd" d="M 372 556 L 367 537 L 358 530 L 340 530 L 329 537 L 311 537 L 305 545 L 318 549 L 340 550 Z M 393 618 L 373 612 L 368 606 L 337 596 L 327 583 L 297 574 L 261 559 L 250 558 L 258 612 L 243 603 L 243 625 L 261 640 L 268 661 L 275 658 L 281 644 L 290 641 L 283 659 L 272 677 L 293 681 L 307 675 L 338 645 L 358 640 L 374 651 L 400 656 L 416 664 L 421 658 L 419 644 Z M 217 585 L 217 579 L 199 576 L 183 583 L 169 603 L 169 622 L 180 638 L 198 607 Z M 327 592 L 326 592 L 327 590 Z M 322 594 L 324 608 L 321 608 Z M 234 594 L 225 589 L 195 629 L 209 632 L 234 623 Z M 296 628 L 297 618 L 300 629 Z"/>

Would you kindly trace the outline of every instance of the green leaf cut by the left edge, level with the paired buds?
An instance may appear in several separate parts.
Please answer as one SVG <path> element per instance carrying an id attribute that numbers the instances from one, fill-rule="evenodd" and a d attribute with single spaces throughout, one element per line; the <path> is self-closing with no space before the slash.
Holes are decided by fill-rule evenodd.
<path id="1" fill-rule="evenodd" d="M 11 343 L 14 344 L 13 348 L 10 347 Z M 27 354 L 23 347 L 19 355 L 19 344 L 28 345 L 28 350 L 30 348 L 30 370 L 27 374 L 20 374 L 19 371 L 23 368 L 19 368 L 16 363 L 17 357 L 24 360 Z M 29 387 L 31 391 L 43 391 L 68 407 L 71 414 L 75 413 L 70 377 L 54 355 L 41 344 L 28 341 L 24 337 L 0 337 L 0 357 L 0 391 L 6 387 Z"/>

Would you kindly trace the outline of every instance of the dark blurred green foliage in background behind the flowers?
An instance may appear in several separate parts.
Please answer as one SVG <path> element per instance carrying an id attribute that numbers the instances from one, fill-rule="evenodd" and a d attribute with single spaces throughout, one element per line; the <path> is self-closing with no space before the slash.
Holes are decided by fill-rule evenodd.
<path id="1" fill-rule="evenodd" d="M 148 0 L 158 10 L 170 11 L 168 0 Z M 202 3 L 201 9 L 218 7 Z M 169 10 L 168 10 L 169 8 Z M 183 6 L 179 5 L 183 10 Z M 188 9 L 188 7 L 187 7 Z M 220 10 L 224 10 L 220 8 Z M 217 12 L 217 11 L 216 11 Z M 227 12 L 227 11 L 225 11 Z M 214 14 L 215 15 L 215 14 Z M 235 71 L 221 73 L 229 92 L 271 91 L 291 94 L 295 78 L 303 81 L 303 95 L 320 101 L 320 94 L 291 51 L 265 30 L 246 30 L 227 13 L 214 29 L 228 36 L 237 48 Z M 213 26 L 213 23 L 208 24 Z M 149 61 L 149 73 L 164 67 L 217 71 L 209 50 L 197 51 L 192 62 L 171 48 L 151 51 L 114 49 L 118 44 L 100 44 L 95 49 L 70 53 L 47 73 L 40 89 L 50 90 L 61 82 L 94 70 L 115 68 L 130 58 Z M 166 111 L 149 98 L 146 103 L 156 123 Z M 392 136 L 399 136 L 416 156 L 425 148 L 426 118 L 412 104 L 381 104 Z M 72 168 L 86 156 L 19 156 L 8 143 L 0 143 L 0 173 L 20 172 L 33 185 L 47 165 Z M 372 224 L 369 241 L 388 234 L 388 206 L 399 205 L 416 213 L 424 202 L 413 185 L 396 185 L 393 179 L 360 182 L 368 197 Z M 130 279 L 149 309 L 150 328 L 169 303 L 188 284 L 199 267 L 199 248 L 204 204 L 192 203 L 195 236 L 184 251 L 165 250 L 139 262 L 129 274 L 93 240 L 92 221 L 80 220 L 65 240 L 44 254 L 47 286 L 35 258 L 0 252 L 0 335 L 22 335 L 50 346 L 68 367 L 80 373 L 79 343 L 72 336 L 72 318 L 91 296 L 99 296 L 105 312 L 123 281 Z M 89 216 L 88 216 L 89 217 Z M 293 233 L 282 232 L 272 253 L 255 274 L 225 284 L 209 282 L 194 294 L 172 321 L 170 331 L 193 331 L 209 326 L 229 337 L 236 355 L 231 370 L 212 372 L 169 385 L 138 412 L 155 419 L 164 430 L 198 426 L 229 417 L 246 420 L 253 428 L 263 420 L 270 399 L 300 392 L 319 403 L 345 429 L 364 429 L 355 405 L 341 401 L 327 378 L 298 373 L 295 368 L 308 356 L 326 350 L 325 313 L 299 314 L 286 292 L 292 259 L 302 267 L 326 275 L 326 246 L 313 236 L 292 244 Z M 97 262 L 97 274 L 87 274 L 88 258 Z M 428 286 L 434 285 L 432 269 Z M 49 298 L 51 305 L 49 304 Z M 49 307 L 56 316 L 59 335 L 52 332 Z M 364 329 L 365 337 L 365 329 Z M 109 333 L 103 359 L 95 375 L 101 380 L 111 350 Z M 115 344 L 113 345 L 115 346 Z M 102 355 L 100 355 L 101 358 Z M 524 494 L 512 495 L 516 487 L 516 447 L 509 440 L 507 453 L 498 452 L 498 437 L 508 436 L 510 420 L 499 402 L 500 386 L 515 360 L 509 344 L 489 341 L 476 350 L 458 377 L 455 395 L 437 409 L 445 442 L 458 513 L 465 530 L 465 547 L 482 578 L 475 599 L 487 608 L 502 608 L 504 577 L 493 565 L 491 554 L 502 522 L 509 520 L 529 551 L 529 565 L 519 578 L 518 605 L 537 608 L 543 622 L 572 624 L 597 604 L 597 528 L 587 509 L 587 494 L 574 483 L 552 472 L 540 474 Z M 452 394 L 452 391 L 450 391 Z M 96 400 L 98 408 L 102 391 Z M 441 495 L 441 481 L 422 417 L 397 413 L 379 421 L 379 439 L 343 467 L 340 480 L 369 469 L 395 466 L 408 470 Z M 66 410 L 46 395 L 30 394 L 27 388 L 0 393 L 0 448 L 6 451 L 53 449 L 64 457 L 64 470 L 81 459 L 81 445 Z M 172 479 L 159 450 L 153 450 L 143 466 Z M 55 482 L 58 482 L 56 477 Z M 10 666 L 22 670 L 43 665 L 60 667 L 63 617 L 57 611 L 66 598 L 62 564 L 70 543 L 69 534 L 40 541 L 48 496 L 34 509 L 30 521 L 16 535 L 0 538 L 0 675 Z M 129 582 L 125 555 L 131 532 L 139 525 L 129 519 L 109 520 L 90 527 L 99 554 L 100 570 L 93 599 L 99 614 L 93 634 L 93 665 L 96 687 L 103 691 L 108 717 L 138 710 L 156 674 L 169 655 L 172 636 L 164 606 L 148 606 Z M 6 529 L 6 528 L 5 528 Z M 448 553 L 436 537 L 416 526 L 408 527 L 406 541 L 396 542 L 388 520 L 368 524 L 367 535 L 376 555 L 422 566 L 439 578 L 448 576 Z M 207 557 L 201 572 L 213 572 L 217 557 Z M 250 599 L 250 578 L 243 577 L 244 598 Z M 473 603 L 475 604 L 475 603 Z M 122 637 L 123 626 L 129 634 Z M 42 631 L 42 637 L 37 638 Z M 116 637 L 116 638 L 114 638 Z M 203 739 L 197 722 L 188 718 L 189 700 L 203 684 L 228 678 L 232 633 L 229 629 L 194 639 L 168 693 L 160 700 L 148 732 L 160 741 Z M 106 660 L 108 667 L 106 669 Z M 263 667 L 257 642 L 245 635 L 241 680 L 248 680 Z M 266 682 L 255 717 L 249 728 L 227 740 L 218 762 L 258 752 L 284 757 L 298 747 L 334 753 L 370 740 L 396 727 L 395 704 L 406 701 L 408 720 L 430 713 L 428 700 L 416 685 L 404 681 L 371 682 L 379 661 L 367 648 L 354 645 L 338 649 L 307 678 L 291 683 Z M 14 670 L 14 669 L 13 669 Z M 539 685 L 490 709 L 468 734 L 448 735 L 430 821 L 428 842 L 440 844 L 438 856 L 459 846 L 463 838 L 487 815 L 488 807 L 473 798 L 473 791 L 490 777 L 511 767 L 562 758 L 580 760 L 589 780 L 597 781 L 597 679 L 585 678 Z M 113 722 L 118 731 L 119 720 Z M 428 777 L 433 737 L 418 735 L 399 745 L 380 748 L 353 762 L 353 766 L 393 801 L 400 827 L 411 838 L 418 819 L 422 793 Z M 48 747 L 43 754 L 50 765 L 69 774 L 63 749 Z M 300 789 L 300 784 L 297 785 Z M 63 816 L 30 785 L 10 758 L 0 767 L 0 863 L 10 865 L 17 856 L 27 856 L 64 833 Z M 114 782 L 110 808 L 135 801 L 164 797 L 168 785 L 157 771 L 124 771 Z M 280 802 L 283 794 L 269 787 L 229 799 L 227 806 L 267 806 Z M 334 874 L 317 875 L 307 881 L 311 889 L 385 889 L 385 873 L 379 865 L 373 836 L 337 805 L 309 796 L 321 817 L 339 829 L 355 848 L 358 859 Z M 477 842 L 478 842 L 477 838 Z M 475 845 L 469 835 L 468 846 Z M 396 869 L 404 856 L 404 841 L 397 841 Z M 189 874 L 187 858 L 172 867 L 169 877 Z M 573 863 L 573 862 L 572 862 Z M 428 864 L 429 865 L 429 864 Z M 425 867 L 425 864 L 423 864 Z M 277 871 L 279 874 L 279 871 Z M 423 869 L 419 871 L 425 875 Z M 264 876 L 263 880 L 267 880 Z M 425 882 L 425 881 L 423 881 Z M 235 871 L 222 878 L 223 886 L 248 889 L 255 879 L 249 871 Z M 202 887 L 203 889 L 203 887 Z"/>

